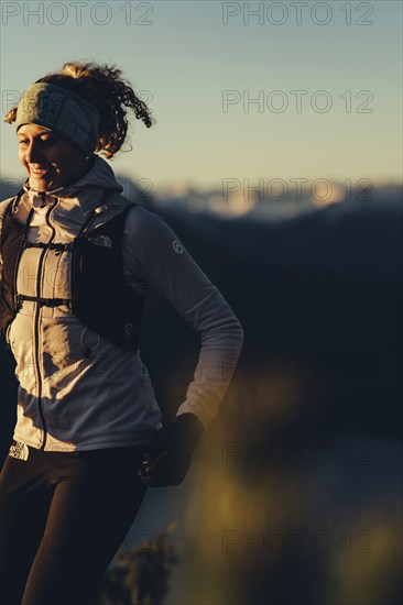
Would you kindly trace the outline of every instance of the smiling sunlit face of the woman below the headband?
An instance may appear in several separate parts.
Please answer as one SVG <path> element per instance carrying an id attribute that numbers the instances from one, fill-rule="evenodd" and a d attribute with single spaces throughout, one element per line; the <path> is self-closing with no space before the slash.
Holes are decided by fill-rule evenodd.
<path id="1" fill-rule="evenodd" d="M 30 187 L 40 191 L 74 183 L 87 170 L 83 152 L 50 129 L 23 124 L 17 132 L 19 160 L 30 176 Z"/>

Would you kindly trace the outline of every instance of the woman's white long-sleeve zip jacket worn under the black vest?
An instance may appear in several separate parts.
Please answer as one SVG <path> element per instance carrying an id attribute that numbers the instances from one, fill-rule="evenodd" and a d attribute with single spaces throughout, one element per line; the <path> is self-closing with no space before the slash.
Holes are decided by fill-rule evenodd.
<path id="1" fill-rule="evenodd" d="M 102 196 L 106 204 L 92 226 L 130 204 L 121 191 L 112 168 L 98 155 L 84 177 L 47 195 L 44 208 L 26 189 L 20 204 L 34 206 L 28 241 L 73 241 Z M 10 199 L 0 202 L 0 228 Z M 194 380 L 177 415 L 190 411 L 207 428 L 240 354 L 239 320 L 160 215 L 141 206 L 131 208 L 122 255 L 129 285 L 141 294 L 155 288 L 200 336 Z M 24 249 L 17 289 L 31 296 L 70 298 L 70 253 Z M 17 441 L 46 451 L 140 446 L 162 426 L 140 351 L 127 352 L 105 340 L 67 306 L 23 300 L 6 336 L 19 382 Z"/>

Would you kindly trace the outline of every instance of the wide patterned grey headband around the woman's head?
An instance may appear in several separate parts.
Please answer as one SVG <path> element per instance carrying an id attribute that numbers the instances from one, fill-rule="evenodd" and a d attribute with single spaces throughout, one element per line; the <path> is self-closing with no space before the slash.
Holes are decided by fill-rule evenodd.
<path id="1" fill-rule="evenodd" d="M 22 96 L 15 129 L 23 124 L 48 128 L 89 155 L 97 146 L 99 119 L 96 108 L 75 92 L 55 84 L 37 82 Z"/>

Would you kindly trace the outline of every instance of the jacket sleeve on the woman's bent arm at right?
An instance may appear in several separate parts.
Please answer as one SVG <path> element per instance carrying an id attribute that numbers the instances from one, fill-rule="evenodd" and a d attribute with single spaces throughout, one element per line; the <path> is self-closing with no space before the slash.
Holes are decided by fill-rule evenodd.
<path id="1" fill-rule="evenodd" d="M 130 210 L 122 253 L 129 284 L 138 288 L 139 278 L 150 284 L 200 336 L 194 380 L 176 416 L 193 413 L 207 428 L 218 414 L 237 365 L 242 327 L 162 216 L 142 207 Z"/>

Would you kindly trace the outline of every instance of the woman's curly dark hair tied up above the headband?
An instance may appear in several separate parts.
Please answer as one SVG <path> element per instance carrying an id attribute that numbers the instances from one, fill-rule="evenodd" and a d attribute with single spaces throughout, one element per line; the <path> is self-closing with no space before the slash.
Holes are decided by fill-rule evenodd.
<path id="1" fill-rule="evenodd" d="M 129 109 L 135 118 L 144 122 L 146 128 L 155 123 L 149 108 L 135 96 L 129 81 L 122 78 L 122 70 L 116 65 L 98 65 L 95 62 L 68 62 L 59 72 L 47 74 L 36 80 L 51 82 L 66 88 L 91 103 L 100 114 L 96 152 L 102 153 L 108 160 L 119 152 L 128 133 Z M 4 117 L 4 122 L 11 124 L 17 119 L 18 106 Z"/>

